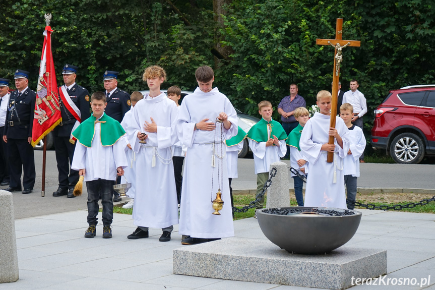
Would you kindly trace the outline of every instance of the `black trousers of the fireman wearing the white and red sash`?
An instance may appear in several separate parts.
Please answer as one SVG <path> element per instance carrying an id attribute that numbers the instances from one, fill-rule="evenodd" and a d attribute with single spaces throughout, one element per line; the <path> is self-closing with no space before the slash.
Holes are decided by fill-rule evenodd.
<path id="1" fill-rule="evenodd" d="M 73 163 L 76 145 L 70 142 L 70 137 L 54 137 L 58 180 L 61 188 L 74 188 L 79 181 L 79 171 L 70 169 Z"/>

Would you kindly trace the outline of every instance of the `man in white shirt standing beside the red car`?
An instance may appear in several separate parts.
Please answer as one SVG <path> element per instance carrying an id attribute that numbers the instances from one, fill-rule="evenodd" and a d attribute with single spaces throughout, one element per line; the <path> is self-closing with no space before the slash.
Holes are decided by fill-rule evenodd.
<path id="1" fill-rule="evenodd" d="M 350 81 L 350 91 L 343 95 L 343 104 L 349 103 L 353 106 L 352 124 L 363 130 L 362 116 L 367 112 L 367 101 L 364 94 L 358 91 L 358 81 L 353 79 Z M 359 162 L 364 163 L 364 153 L 359 157 Z"/>

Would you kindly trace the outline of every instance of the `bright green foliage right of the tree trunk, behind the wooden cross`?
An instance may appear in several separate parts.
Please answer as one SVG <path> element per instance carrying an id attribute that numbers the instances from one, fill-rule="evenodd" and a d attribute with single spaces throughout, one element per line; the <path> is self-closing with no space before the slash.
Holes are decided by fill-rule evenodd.
<path id="1" fill-rule="evenodd" d="M 299 84 L 307 105 L 319 90 L 331 89 L 334 50 L 316 38 L 335 38 L 343 18 L 343 39 L 361 47 L 343 49 L 342 89 L 353 78 L 369 112 L 390 89 L 434 82 L 434 13 L 431 3 L 397 1 L 233 1 L 225 17 L 226 45 L 235 51 L 225 71 L 233 102 L 255 113 L 260 100 L 278 105 L 289 84 Z M 365 118 L 366 127 L 371 120 Z"/>

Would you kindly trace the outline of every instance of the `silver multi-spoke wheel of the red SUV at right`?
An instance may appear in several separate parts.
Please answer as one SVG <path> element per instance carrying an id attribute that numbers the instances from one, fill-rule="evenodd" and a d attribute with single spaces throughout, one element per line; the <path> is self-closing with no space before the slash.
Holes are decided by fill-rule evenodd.
<path id="1" fill-rule="evenodd" d="M 413 133 L 399 134 L 391 142 L 390 154 L 396 163 L 420 163 L 424 157 L 423 141 Z"/>

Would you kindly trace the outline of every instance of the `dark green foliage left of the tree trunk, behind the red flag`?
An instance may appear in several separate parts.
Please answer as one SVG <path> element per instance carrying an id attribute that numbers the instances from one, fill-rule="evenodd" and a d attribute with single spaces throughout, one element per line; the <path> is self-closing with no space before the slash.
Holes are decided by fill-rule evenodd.
<path id="1" fill-rule="evenodd" d="M 120 72 L 118 86 L 132 92 L 146 89 L 143 71 L 158 64 L 167 70 L 167 86 L 191 88 L 195 69 L 212 63 L 212 5 L 208 3 L 209 9 L 205 9 L 192 8 L 187 1 L 181 4 L 182 11 L 192 14 L 189 26 L 165 1 L 2 2 L 0 75 L 13 78 L 16 68 L 28 70 L 33 76 L 29 86 L 36 87 L 45 28 L 43 15 L 51 13 L 58 84 L 63 83 L 61 69 L 69 63 L 79 66 L 77 82 L 89 91 L 102 90 L 103 73 L 113 70 Z"/>

